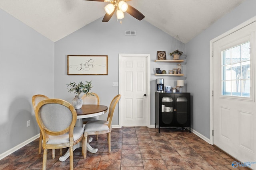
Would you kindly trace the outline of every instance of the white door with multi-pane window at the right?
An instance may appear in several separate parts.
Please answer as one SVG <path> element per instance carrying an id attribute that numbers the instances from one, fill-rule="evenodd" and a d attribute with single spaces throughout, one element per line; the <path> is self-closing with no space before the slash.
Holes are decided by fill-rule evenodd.
<path id="1" fill-rule="evenodd" d="M 256 22 L 213 43 L 213 144 L 241 162 L 256 163 L 255 43 Z"/>

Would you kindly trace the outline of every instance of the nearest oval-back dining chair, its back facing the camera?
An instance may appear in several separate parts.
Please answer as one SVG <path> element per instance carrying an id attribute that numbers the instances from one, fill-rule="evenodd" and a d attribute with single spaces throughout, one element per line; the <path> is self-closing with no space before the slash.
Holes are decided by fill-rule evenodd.
<path id="1" fill-rule="evenodd" d="M 84 155 L 84 127 L 76 124 L 76 109 L 61 99 L 42 100 L 36 106 L 36 121 L 43 137 L 43 170 L 46 170 L 48 149 L 70 149 L 70 170 L 73 170 L 73 146 L 82 141 Z"/>

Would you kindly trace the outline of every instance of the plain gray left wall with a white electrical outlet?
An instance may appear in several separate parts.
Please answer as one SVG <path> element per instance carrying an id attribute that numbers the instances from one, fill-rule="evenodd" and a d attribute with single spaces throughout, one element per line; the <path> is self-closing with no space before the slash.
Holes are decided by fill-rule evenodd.
<path id="1" fill-rule="evenodd" d="M 0 9 L 0 153 L 39 133 L 31 100 L 53 97 L 53 72 L 54 43 Z"/>

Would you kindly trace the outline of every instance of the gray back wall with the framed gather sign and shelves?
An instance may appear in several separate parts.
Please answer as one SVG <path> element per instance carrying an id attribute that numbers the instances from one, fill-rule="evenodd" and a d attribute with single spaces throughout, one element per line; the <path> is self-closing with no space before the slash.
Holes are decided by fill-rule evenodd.
<path id="1" fill-rule="evenodd" d="M 125 36 L 125 30 L 136 30 L 136 36 Z M 184 44 L 178 45 L 184 51 Z M 92 80 L 92 92 L 99 95 L 100 104 L 109 106 L 112 98 L 118 94 L 118 87 L 112 87 L 112 82 L 118 82 L 119 54 L 150 54 L 151 125 L 154 125 L 156 78 L 164 78 L 165 84 L 172 86 L 178 79 L 171 76 L 154 76 L 154 68 L 176 68 L 176 64 L 159 64 L 154 61 L 157 59 L 157 51 L 166 51 L 167 58 L 171 59 L 169 53 L 175 50 L 175 46 L 175 38 L 145 20 L 138 21 L 128 14 L 122 19 L 122 24 L 116 21 L 115 15 L 107 23 L 102 23 L 100 18 L 55 43 L 54 96 L 71 102 L 74 94 L 68 92 L 66 84 Z M 108 55 L 108 75 L 67 75 L 67 55 Z M 185 66 L 183 68 L 185 70 Z M 117 109 L 112 124 L 119 125 Z"/>

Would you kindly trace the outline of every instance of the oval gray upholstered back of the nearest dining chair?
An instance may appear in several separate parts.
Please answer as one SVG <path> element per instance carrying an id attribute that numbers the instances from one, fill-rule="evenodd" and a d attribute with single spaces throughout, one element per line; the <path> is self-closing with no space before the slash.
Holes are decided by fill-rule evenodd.
<path id="1" fill-rule="evenodd" d="M 61 135 L 74 129 L 76 110 L 65 100 L 42 100 L 36 106 L 36 121 L 41 131 L 48 135 Z"/>

